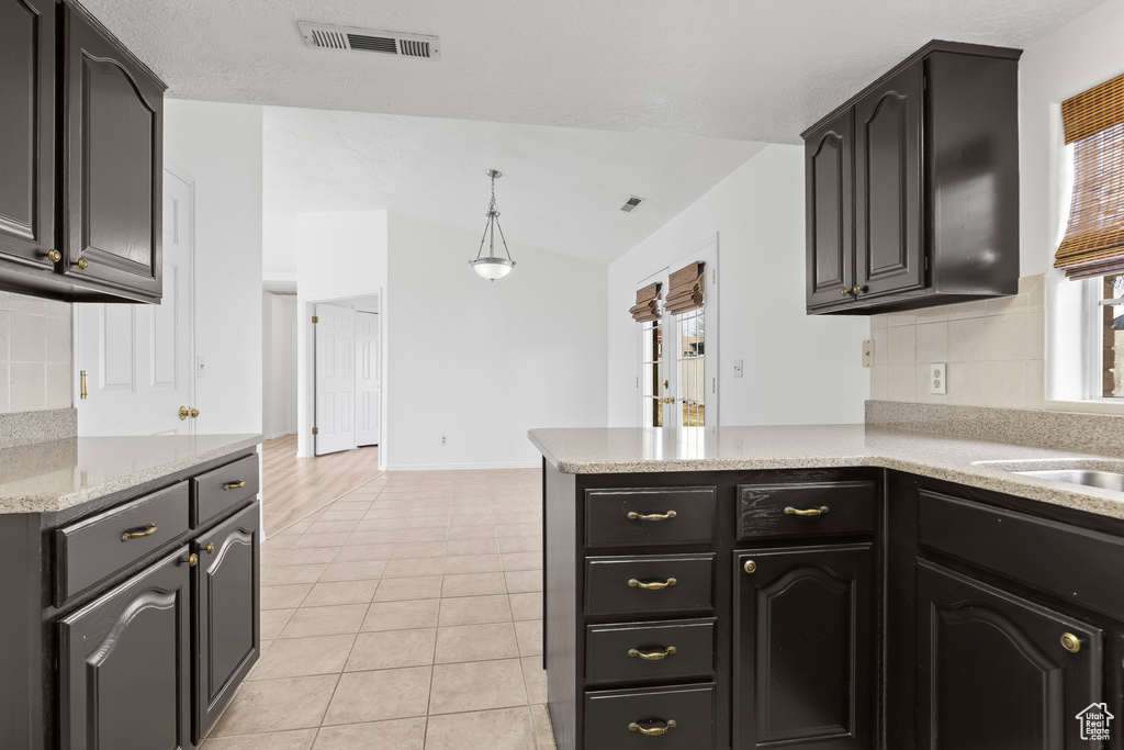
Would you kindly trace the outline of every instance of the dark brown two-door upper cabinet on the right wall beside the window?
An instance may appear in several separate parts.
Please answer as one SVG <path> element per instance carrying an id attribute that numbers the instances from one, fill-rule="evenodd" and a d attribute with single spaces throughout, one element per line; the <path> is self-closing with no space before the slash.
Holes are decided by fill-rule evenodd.
<path id="1" fill-rule="evenodd" d="M 932 42 L 804 133 L 809 314 L 1016 293 L 1019 55 Z"/>

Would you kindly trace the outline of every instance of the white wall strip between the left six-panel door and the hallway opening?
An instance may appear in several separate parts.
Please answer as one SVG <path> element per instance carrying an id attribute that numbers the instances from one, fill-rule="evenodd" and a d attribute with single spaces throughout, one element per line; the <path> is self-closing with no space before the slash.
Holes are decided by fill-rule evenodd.
<path id="1" fill-rule="evenodd" d="M 194 180 L 200 433 L 262 430 L 262 108 L 167 99 L 164 159 Z"/>

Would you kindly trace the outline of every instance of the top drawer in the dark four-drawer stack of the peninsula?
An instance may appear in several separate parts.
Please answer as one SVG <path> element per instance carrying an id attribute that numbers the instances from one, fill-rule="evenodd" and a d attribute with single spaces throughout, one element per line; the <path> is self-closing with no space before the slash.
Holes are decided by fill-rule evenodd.
<path id="1" fill-rule="evenodd" d="M 714 518 L 714 487 L 586 490 L 588 546 L 708 544 Z"/>

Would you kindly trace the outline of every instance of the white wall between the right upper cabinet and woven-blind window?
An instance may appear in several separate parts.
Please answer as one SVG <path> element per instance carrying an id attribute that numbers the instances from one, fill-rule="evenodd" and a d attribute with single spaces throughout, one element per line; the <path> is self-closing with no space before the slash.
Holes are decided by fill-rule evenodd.
<path id="1" fill-rule="evenodd" d="M 1122 29 L 1124 0 L 1108 0 L 1027 47 L 1018 63 L 1021 275 L 1052 268 L 1058 250 L 1061 102 L 1124 73 Z"/>

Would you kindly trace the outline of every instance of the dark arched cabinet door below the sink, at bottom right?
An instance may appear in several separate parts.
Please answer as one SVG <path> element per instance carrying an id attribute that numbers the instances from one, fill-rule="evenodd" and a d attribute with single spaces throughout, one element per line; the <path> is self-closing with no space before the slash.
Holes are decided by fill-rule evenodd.
<path id="1" fill-rule="evenodd" d="M 1076 719 L 1105 701 L 1100 631 L 927 562 L 917 598 L 918 748 L 1100 747 Z"/>

